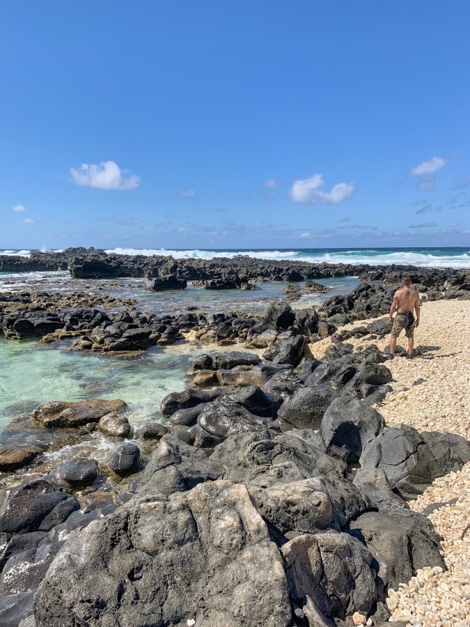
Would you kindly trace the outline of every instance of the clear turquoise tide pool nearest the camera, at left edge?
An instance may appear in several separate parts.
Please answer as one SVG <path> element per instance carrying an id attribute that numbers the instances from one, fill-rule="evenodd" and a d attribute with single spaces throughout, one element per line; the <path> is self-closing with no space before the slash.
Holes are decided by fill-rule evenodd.
<path id="1" fill-rule="evenodd" d="M 47 401 L 122 398 L 131 424 L 159 417 L 162 398 L 184 387 L 203 346 L 155 346 L 137 357 L 70 352 L 36 340 L 0 337 L 0 429 Z"/>

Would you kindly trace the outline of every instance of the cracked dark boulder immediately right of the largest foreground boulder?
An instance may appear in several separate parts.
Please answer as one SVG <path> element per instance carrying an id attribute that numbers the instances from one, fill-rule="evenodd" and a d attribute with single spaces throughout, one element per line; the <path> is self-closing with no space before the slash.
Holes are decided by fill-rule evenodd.
<path id="1" fill-rule="evenodd" d="M 348 534 L 306 534 L 281 547 L 290 598 L 326 617 L 368 616 L 377 601 L 373 556 Z"/>

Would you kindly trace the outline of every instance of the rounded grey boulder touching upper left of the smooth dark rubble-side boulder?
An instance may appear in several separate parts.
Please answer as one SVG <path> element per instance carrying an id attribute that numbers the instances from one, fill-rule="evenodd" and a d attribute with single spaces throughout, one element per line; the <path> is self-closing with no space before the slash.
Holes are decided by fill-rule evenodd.
<path id="1" fill-rule="evenodd" d="M 336 396 L 336 391 L 329 387 L 301 388 L 294 396 L 285 399 L 278 416 L 297 429 L 318 429 L 324 412 Z"/>

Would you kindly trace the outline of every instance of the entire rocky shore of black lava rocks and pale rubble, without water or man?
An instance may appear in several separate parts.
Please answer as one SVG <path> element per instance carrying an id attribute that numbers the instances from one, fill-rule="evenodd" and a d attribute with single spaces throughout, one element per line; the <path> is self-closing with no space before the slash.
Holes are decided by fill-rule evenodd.
<path id="1" fill-rule="evenodd" d="M 3 430 L 0 625 L 469 627 L 470 272 L 121 257 L 0 270 L 146 277 L 150 291 L 364 282 L 263 314 L 152 314 L 106 288 L 1 293 L 5 341 L 198 354 L 140 428 L 126 398 L 56 398 Z M 423 296 L 415 359 L 386 360 L 404 274 Z"/>

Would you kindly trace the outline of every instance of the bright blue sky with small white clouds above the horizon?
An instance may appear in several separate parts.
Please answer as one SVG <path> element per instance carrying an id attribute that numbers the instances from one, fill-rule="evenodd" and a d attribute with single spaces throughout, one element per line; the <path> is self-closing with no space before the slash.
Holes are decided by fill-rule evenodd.
<path id="1" fill-rule="evenodd" d="M 467 246 L 469 18 L 3 0 L 0 248 Z"/>

